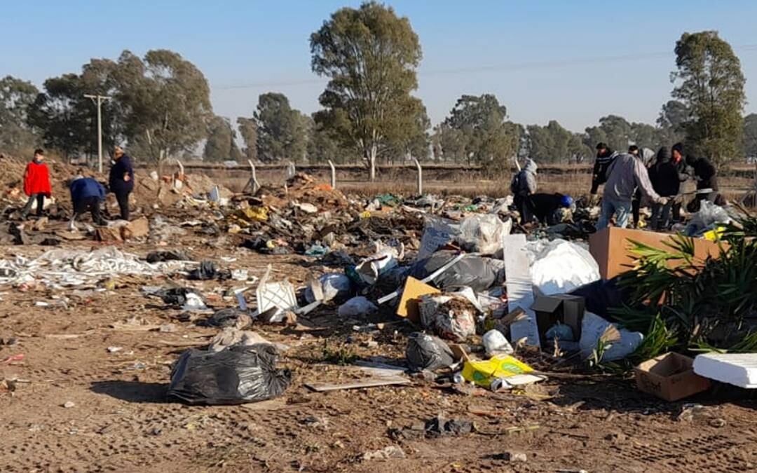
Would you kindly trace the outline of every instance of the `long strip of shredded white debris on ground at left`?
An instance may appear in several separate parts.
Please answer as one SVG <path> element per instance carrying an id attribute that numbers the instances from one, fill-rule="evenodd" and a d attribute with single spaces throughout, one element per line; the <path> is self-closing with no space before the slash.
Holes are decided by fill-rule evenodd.
<path id="1" fill-rule="evenodd" d="M 190 261 L 147 263 L 136 254 L 123 253 L 113 246 L 95 251 L 57 249 L 35 259 L 0 260 L 0 285 L 37 281 L 48 288 L 61 289 L 92 285 L 114 275 L 162 275 L 195 264 Z"/>

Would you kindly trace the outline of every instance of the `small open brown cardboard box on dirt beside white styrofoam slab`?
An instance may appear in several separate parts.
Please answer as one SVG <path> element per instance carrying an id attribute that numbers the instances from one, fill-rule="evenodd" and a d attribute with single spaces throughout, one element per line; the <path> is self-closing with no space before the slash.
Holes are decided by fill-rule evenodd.
<path id="1" fill-rule="evenodd" d="M 710 381 L 694 373 L 694 360 L 678 353 L 648 359 L 634 369 L 639 391 L 677 401 L 707 391 Z"/>

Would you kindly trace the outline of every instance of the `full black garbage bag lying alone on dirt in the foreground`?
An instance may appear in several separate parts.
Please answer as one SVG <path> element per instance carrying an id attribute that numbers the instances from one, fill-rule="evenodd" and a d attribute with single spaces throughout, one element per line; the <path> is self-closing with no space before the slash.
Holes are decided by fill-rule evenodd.
<path id="1" fill-rule="evenodd" d="M 276 369 L 277 357 L 271 344 L 232 345 L 219 352 L 186 350 L 171 371 L 168 397 L 205 405 L 278 397 L 291 383 L 291 372 Z"/>

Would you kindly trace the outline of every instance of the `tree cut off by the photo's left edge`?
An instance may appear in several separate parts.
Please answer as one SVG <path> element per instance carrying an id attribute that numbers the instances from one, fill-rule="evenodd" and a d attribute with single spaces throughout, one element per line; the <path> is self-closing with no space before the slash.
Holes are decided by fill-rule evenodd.
<path id="1" fill-rule="evenodd" d="M 38 137 L 27 122 L 37 94 L 31 82 L 12 76 L 0 79 L 0 149 L 20 153 L 37 144 Z"/>

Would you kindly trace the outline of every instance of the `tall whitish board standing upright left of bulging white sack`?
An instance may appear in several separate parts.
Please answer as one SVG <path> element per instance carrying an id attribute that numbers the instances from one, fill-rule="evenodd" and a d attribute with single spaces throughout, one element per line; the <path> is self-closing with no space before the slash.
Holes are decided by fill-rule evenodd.
<path id="1" fill-rule="evenodd" d="M 528 266 L 528 254 L 525 251 L 525 235 L 504 235 L 502 247 L 505 256 L 505 274 L 507 285 L 508 310 L 518 308 L 525 311 L 527 319 L 510 325 L 510 339 L 513 344 L 521 338 L 529 345 L 539 346 L 539 329 L 536 314 L 531 310 L 534 303 L 534 291 L 531 285 L 531 270 Z"/>

